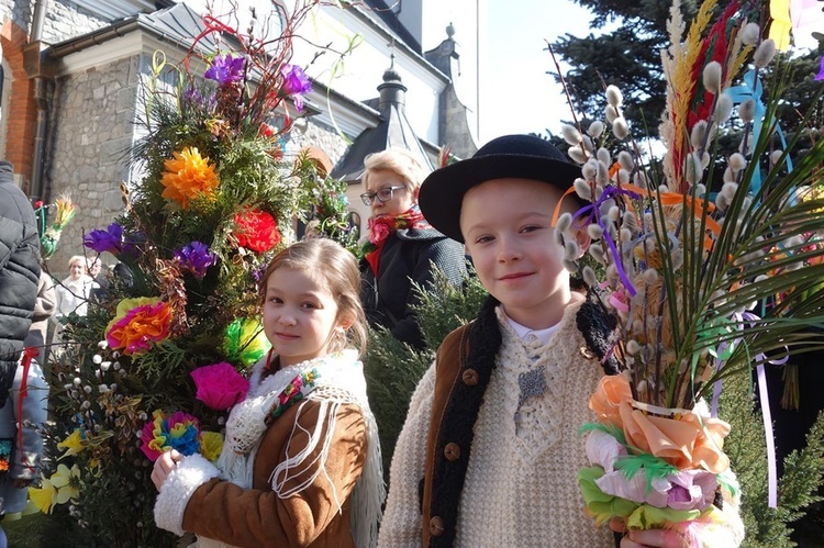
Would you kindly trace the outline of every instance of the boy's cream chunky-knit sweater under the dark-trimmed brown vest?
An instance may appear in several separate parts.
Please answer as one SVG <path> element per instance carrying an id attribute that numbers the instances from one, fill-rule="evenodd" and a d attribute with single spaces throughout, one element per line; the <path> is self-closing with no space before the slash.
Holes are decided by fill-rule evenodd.
<path id="1" fill-rule="evenodd" d="M 455 546 L 612 547 L 606 527 L 584 512 L 577 483 L 589 466 L 579 427 L 592 422 L 589 398 L 603 374 L 581 354 L 578 305 L 568 306 L 546 345 L 521 340 L 499 309 L 502 345 L 475 425 L 469 468 L 460 499 Z M 534 359 L 537 357 L 537 359 Z M 544 367 L 546 390 L 521 406 L 516 427 L 519 376 Z M 392 459 L 389 500 L 380 547 L 421 546 L 419 482 L 424 457 L 435 367 L 419 383 Z M 741 522 L 736 508 L 736 537 Z M 726 546 L 736 546 L 732 539 Z"/>

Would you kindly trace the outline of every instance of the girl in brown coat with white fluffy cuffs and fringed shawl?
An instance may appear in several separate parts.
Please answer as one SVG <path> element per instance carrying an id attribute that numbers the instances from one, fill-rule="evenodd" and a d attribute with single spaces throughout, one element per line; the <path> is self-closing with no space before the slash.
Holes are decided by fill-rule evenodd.
<path id="1" fill-rule="evenodd" d="M 261 284 L 272 345 L 230 413 L 219 468 L 164 454 L 155 522 L 198 546 L 364 547 L 385 488 L 359 351 L 366 318 L 354 256 L 330 239 L 279 253 Z M 298 390 L 299 389 L 299 390 Z"/>

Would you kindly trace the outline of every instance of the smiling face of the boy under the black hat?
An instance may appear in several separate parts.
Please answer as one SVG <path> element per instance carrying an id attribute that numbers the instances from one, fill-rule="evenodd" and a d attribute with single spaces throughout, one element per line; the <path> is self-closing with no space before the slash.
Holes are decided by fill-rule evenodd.
<path id="1" fill-rule="evenodd" d="M 563 193 L 530 179 L 494 179 L 470 189 L 460 232 L 483 287 L 515 322 L 541 329 L 560 318 L 569 302 L 564 250 L 552 227 Z"/>

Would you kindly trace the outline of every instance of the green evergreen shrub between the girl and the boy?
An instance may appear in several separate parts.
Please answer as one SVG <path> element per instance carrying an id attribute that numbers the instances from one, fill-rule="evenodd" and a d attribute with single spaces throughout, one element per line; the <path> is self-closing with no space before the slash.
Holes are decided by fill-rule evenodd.
<path id="1" fill-rule="evenodd" d="M 471 321 L 487 295 L 483 287 L 471 275 L 466 278 L 463 287 L 455 287 L 438 270 L 427 289 L 424 291 L 423 288 L 416 288 L 421 302 L 415 307 L 427 348 L 417 351 L 398 342 L 388 331 L 374 329 L 370 332 L 364 359 L 369 405 L 378 421 L 387 477 L 394 445 L 417 381 L 432 364 L 435 350 L 444 337 Z"/>

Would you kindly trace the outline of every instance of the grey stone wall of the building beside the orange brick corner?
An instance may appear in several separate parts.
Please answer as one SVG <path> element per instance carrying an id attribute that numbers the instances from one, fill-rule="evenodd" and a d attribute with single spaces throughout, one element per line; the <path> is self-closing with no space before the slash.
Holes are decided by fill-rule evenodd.
<path id="1" fill-rule="evenodd" d="M 121 59 L 56 82 L 46 183 L 52 198 L 70 193 L 77 214 L 49 261 L 52 273 L 67 272 L 68 258 L 83 254 L 83 233 L 104 228 L 123 211 L 120 184 L 129 179 L 142 60 Z M 108 254 L 102 259 L 114 262 Z"/>

